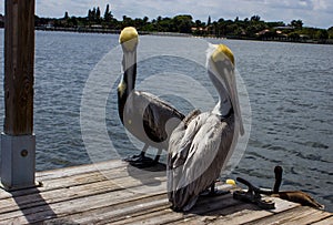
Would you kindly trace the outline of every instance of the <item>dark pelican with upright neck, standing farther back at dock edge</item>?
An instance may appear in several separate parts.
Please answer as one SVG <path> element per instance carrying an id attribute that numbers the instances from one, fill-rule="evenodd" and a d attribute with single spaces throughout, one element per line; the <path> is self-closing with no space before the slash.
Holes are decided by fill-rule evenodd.
<path id="1" fill-rule="evenodd" d="M 122 124 L 144 143 L 139 155 L 125 158 L 130 164 L 144 167 L 159 162 L 162 149 L 168 149 L 168 134 L 184 119 L 184 115 L 167 102 L 150 93 L 135 90 L 137 47 L 135 28 L 124 28 L 119 38 L 123 50 L 123 76 L 118 85 L 118 111 Z M 149 146 L 159 150 L 154 160 L 144 156 Z"/>

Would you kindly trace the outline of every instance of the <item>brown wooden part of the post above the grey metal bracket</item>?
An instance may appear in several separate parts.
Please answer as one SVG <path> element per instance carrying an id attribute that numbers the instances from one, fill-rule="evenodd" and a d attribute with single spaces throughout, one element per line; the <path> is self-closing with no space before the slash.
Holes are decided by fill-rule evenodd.
<path id="1" fill-rule="evenodd" d="M 4 133 L 33 131 L 34 0 L 6 0 Z"/>

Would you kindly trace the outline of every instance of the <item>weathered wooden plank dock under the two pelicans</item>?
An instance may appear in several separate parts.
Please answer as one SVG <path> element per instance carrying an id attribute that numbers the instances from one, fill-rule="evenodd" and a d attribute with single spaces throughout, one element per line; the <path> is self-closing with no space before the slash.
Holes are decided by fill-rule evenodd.
<path id="1" fill-rule="evenodd" d="M 108 161 L 38 172 L 37 181 L 41 187 L 0 190 L 0 224 L 333 224 L 329 212 L 279 198 L 264 211 L 232 194 L 201 197 L 191 212 L 175 213 L 162 165 L 148 171 Z"/>

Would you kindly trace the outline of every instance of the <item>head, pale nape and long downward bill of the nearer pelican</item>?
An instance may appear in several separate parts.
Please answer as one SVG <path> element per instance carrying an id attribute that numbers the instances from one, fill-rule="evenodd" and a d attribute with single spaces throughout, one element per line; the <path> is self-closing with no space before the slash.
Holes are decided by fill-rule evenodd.
<path id="1" fill-rule="evenodd" d="M 241 135 L 244 134 L 240 102 L 236 90 L 235 60 L 232 51 L 224 44 L 210 44 L 206 68 L 216 90 L 224 89 L 231 100 L 235 119 L 239 121 Z M 221 95 L 220 95 L 221 98 Z"/>

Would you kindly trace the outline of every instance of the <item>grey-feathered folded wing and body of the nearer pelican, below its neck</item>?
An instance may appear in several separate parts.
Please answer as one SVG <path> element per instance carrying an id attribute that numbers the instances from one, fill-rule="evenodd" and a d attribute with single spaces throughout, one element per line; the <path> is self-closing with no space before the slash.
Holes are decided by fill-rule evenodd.
<path id="1" fill-rule="evenodd" d="M 233 116 L 221 122 L 214 114 L 200 114 L 190 123 L 183 140 L 169 146 L 173 156 L 168 162 L 173 162 L 168 171 L 169 200 L 175 207 L 191 208 L 199 194 L 219 177 L 232 143 L 232 122 Z"/>

